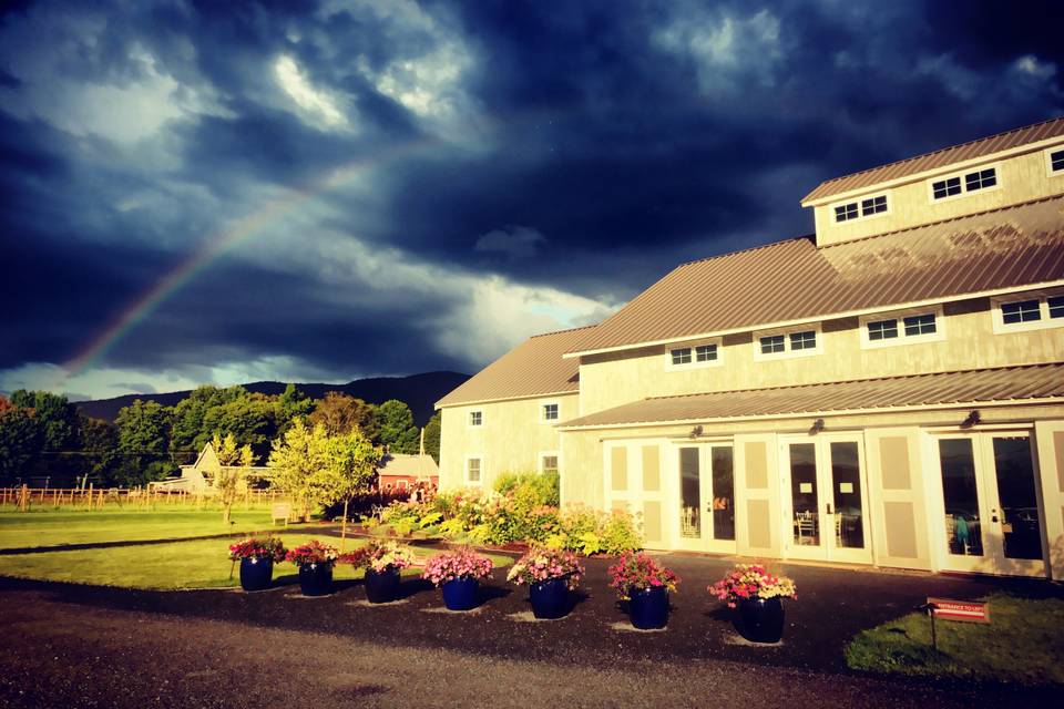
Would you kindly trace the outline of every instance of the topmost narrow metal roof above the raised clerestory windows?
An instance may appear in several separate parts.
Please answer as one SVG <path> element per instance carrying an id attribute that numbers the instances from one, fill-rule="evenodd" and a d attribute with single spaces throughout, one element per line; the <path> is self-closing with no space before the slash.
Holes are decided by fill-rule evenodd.
<path id="1" fill-rule="evenodd" d="M 879 183 L 931 169 L 949 167 L 955 163 L 993 155 L 994 153 L 1061 135 L 1064 135 L 1064 117 L 1043 121 L 1042 123 L 1013 129 L 978 141 L 953 145 L 952 147 L 909 157 L 880 167 L 828 179 L 820 183 L 820 185 L 806 195 L 801 202 L 806 204 L 808 202 L 823 199 L 825 197 L 845 192 L 870 187 Z"/>

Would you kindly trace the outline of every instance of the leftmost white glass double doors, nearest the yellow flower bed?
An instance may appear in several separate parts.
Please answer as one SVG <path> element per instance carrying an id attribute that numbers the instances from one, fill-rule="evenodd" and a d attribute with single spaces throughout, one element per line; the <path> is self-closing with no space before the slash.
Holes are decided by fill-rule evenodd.
<path id="1" fill-rule="evenodd" d="M 676 546 L 735 553 L 735 467 L 730 443 L 677 449 Z"/>

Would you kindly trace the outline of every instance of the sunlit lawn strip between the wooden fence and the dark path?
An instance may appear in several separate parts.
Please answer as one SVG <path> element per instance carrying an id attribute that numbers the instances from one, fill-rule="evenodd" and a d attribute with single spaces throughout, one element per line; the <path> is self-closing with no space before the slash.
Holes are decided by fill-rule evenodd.
<path id="1" fill-rule="evenodd" d="M 268 530 L 269 510 L 234 510 L 231 522 L 217 510 L 60 511 L 0 513 L 0 548 L 188 538 Z M 279 527 L 278 527 L 279 528 Z"/>

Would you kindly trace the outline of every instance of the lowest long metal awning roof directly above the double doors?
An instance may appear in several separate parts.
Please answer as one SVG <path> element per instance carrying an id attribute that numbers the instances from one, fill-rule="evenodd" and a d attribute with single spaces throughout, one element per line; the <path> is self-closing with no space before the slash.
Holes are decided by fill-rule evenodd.
<path id="1" fill-rule="evenodd" d="M 1064 402 L 1064 363 L 661 397 L 573 419 L 561 428 L 816 415 L 1032 399 Z"/>

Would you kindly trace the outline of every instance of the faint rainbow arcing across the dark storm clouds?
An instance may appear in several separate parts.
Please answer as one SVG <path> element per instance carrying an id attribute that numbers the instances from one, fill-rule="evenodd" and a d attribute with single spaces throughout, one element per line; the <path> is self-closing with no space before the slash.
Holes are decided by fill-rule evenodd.
<path id="1" fill-rule="evenodd" d="M 437 144 L 434 138 L 422 138 L 392 147 L 372 156 L 352 161 L 347 165 L 331 171 L 326 177 L 314 181 L 304 188 L 274 199 L 254 214 L 245 216 L 232 224 L 228 228 L 208 238 L 202 248 L 192 254 L 167 273 L 158 282 L 143 292 L 125 310 L 119 314 L 102 332 L 95 336 L 78 354 L 62 366 L 61 386 L 71 377 L 75 377 L 98 363 L 115 345 L 126 337 L 137 325 L 146 320 L 161 305 L 174 294 L 206 270 L 226 253 L 247 240 L 264 227 L 276 224 L 283 216 L 306 204 L 307 202 L 332 191 L 360 173 L 379 167 L 383 163 L 407 156 L 415 151 L 424 150 Z"/>

